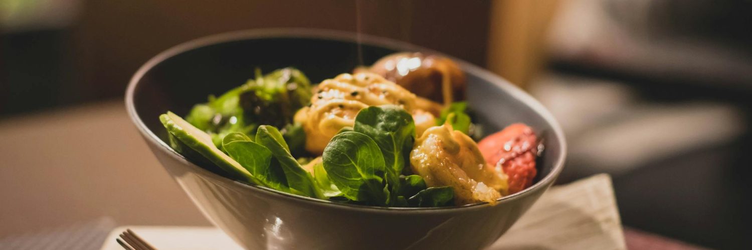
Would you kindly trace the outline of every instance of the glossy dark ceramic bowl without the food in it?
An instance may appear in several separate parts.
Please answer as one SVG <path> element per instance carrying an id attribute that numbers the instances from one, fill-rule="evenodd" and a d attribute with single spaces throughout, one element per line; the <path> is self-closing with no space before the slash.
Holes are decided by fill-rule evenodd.
<path id="1" fill-rule="evenodd" d="M 566 145 L 559 125 L 538 101 L 506 80 L 461 60 L 468 101 L 486 131 L 524 122 L 541 135 L 545 152 L 535 184 L 487 203 L 450 208 L 344 205 L 236 182 L 194 164 L 168 146 L 159 114 L 185 115 L 253 77 L 253 69 L 299 68 L 312 82 L 359 65 L 356 35 L 320 30 L 260 30 L 200 38 L 173 47 L 136 72 L 126 93 L 131 119 L 150 149 L 217 227 L 250 249 L 475 249 L 499 238 L 538 200 L 562 170 Z M 440 54 L 411 44 L 363 36 L 370 65 L 399 51 Z"/>

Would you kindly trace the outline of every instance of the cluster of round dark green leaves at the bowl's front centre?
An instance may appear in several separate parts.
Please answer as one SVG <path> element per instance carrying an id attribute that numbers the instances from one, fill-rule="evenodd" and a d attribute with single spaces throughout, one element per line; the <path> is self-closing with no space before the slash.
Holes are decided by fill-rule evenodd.
<path id="1" fill-rule="evenodd" d="M 323 167 L 349 200 L 380 206 L 444 206 L 453 199 L 452 188 L 429 190 L 420 176 L 401 175 L 414 140 L 410 113 L 394 105 L 367 107 L 356 116 L 353 131 L 340 131 L 329 141 Z"/>

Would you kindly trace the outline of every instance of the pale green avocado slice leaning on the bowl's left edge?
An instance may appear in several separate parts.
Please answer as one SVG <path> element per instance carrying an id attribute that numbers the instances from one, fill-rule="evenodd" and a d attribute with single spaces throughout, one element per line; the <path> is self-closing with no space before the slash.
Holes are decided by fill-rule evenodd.
<path id="1" fill-rule="evenodd" d="M 198 152 L 209 161 L 216 164 L 217 167 L 222 168 L 235 177 L 235 179 L 251 184 L 259 183 L 256 177 L 243 168 L 238 161 L 233 160 L 224 152 L 220 151 L 217 146 L 214 146 L 209 134 L 199 130 L 199 128 L 194 127 L 183 118 L 180 118 L 180 116 L 169 111 L 159 116 L 159 120 L 162 121 L 162 125 L 165 125 L 168 133 L 174 137 L 171 139 L 179 140 L 184 146 L 188 146 L 190 149 Z M 180 149 L 176 150 L 182 151 Z"/>

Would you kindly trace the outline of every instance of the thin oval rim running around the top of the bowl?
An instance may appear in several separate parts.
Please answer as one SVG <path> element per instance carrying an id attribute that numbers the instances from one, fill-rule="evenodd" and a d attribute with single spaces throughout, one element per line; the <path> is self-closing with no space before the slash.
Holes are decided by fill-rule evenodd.
<path id="1" fill-rule="evenodd" d="M 535 182 L 535 184 L 529 186 L 528 188 L 523 189 L 522 191 L 499 198 L 498 200 L 496 200 L 497 203 L 495 205 L 490 205 L 490 203 L 472 203 L 472 204 L 466 204 L 462 206 L 443 206 L 443 207 L 365 206 L 365 205 L 356 205 L 356 204 L 347 204 L 347 203 L 336 203 L 331 200 L 320 200 L 320 199 L 313 198 L 313 197 L 304 197 L 304 196 L 300 196 L 297 194 L 288 194 L 288 193 L 277 191 L 271 188 L 266 188 L 266 187 L 262 187 L 258 185 L 250 185 L 244 182 L 238 182 L 234 179 L 229 179 L 225 176 L 220 176 L 217 173 L 213 173 L 209 170 L 206 170 L 203 167 L 199 167 L 193 162 L 188 161 L 188 159 L 183 157 L 183 155 L 180 155 L 179 153 L 174 151 L 174 149 L 172 149 L 167 143 L 160 140 L 159 137 L 157 137 L 156 134 L 153 133 L 153 131 L 147 128 L 146 124 L 144 124 L 144 122 L 141 120 L 141 117 L 138 116 L 138 113 L 136 112 L 136 109 L 135 109 L 135 102 L 134 102 L 136 86 L 138 85 L 139 82 L 141 82 L 141 78 L 144 77 L 144 75 L 147 74 L 147 72 L 153 69 L 156 65 L 159 65 L 165 60 L 170 59 L 173 56 L 177 56 L 181 53 L 184 53 L 190 50 L 200 49 L 202 47 L 208 47 L 214 44 L 223 44 L 223 43 L 228 43 L 228 42 L 233 42 L 233 41 L 268 39 L 268 38 L 307 38 L 307 39 L 321 39 L 321 40 L 329 40 L 329 41 L 344 41 L 344 42 L 350 42 L 350 43 L 359 42 L 361 44 L 367 44 L 367 45 L 374 46 L 374 47 L 384 47 L 384 48 L 388 48 L 388 49 L 392 49 L 396 51 L 410 50 L 410 51 L 430 53 L 434 55 L 447 57 L 449 59 L 452 59 L 458 65 L 460 65 L 460 68 L 462 68 L 463 71 L 468 72 L 469 74 L 473 74 L 483 80 L 486 80 L 489 83 L 493 83 L 496 87 L 502 89 L 502 91 L 508 92 L 510 95 L 514 96 L 514 98 L 517 98 L 518 100 L 522 101 L 524 104 L 531 107 L 532 110 L 538 113 L 538 115 L 541 116 L 544 119 L 544 121 L 546 121 L 550 125 L 550 127 L 553 129 L 553 136 L 555 136 L 560 142 L 561 154 L 559 154 L 558 158 L 554 159 L 553 169 L 550 171 L 550 173 L 548 173 L 547 176 L 544 176 L 538 182 Z M 158 145 L 159 149 L 161 149 L 168 155 L 171 155 L 173 158 L 176 158 L 178 161 L 183 162 L 187 166 L 190 166 L 193 170 L 197 170 L 200 173 L 204 173 L 204 175 L 211 177 L 212 179 L 217 179 L 221 182 L 225 182 L 226 184 L 240 185 L 242 188 L 250 188 L 251 190 L 266 192 L 268 194 L 271 194 L 280 198 L 287 198 L 287 199 L 298 200 L 298 201 L 308 202 L 308 203 L 317 203 L 318 205 L 336 206 L 337 208 L 341 208 L 341 209 L 406 213 L 406 212 L 450 212 L 450 211 L 456 212 L 460 210 L 464 211 L 467 209 L 481 209 L 481 208 L 490 207 L 490 206 L 503 206 L 504 203 L 509 203 L 512 200 L 517 200 L 518 198 L 525 196 L 526 194 L 531 194 L 535 190 L 538 190 L 541 188 L 547 188 L 548 186 L 550 186 L 550 183 L 555 181 L 556 177 L 559 176 L 559 173 L 561 173 L 562 168 L 564 167 L 564 164 L 566 161 L 566 152 L 567 152 L 566 138 L 564 137 L 564 133 L 562 131 L 562 128 L 559 126 L 559 123 L 556 122 L 556 119 L 553 118 L 553 115 L 540 102 L 538 102 L 538 100 L 535 100 L 535 98 L 532 98 L 532 96 L 524 92 L 522 89 L 519 89 L 517 86 L 514 86 L 513 84 L 509 83 L 504 78 L 499 77 L 496 74 L 493 74 L 490 71 L 485 70 L 484 68 L 480 68 L 476 65 L 472 65 L 469 62 L 465 62 L 462 59 L 456 59 L 453 56 L 447 56 L 444 53 L 439 53 L 438 51 L 435 51 L 435 50 L 430 50 L 424 47 L 419 47 L 417 45 L 409 44 L 403 41 L 396 41 L 390 38 L 381 38 L 378 36 L 358 34 L 354 32 L 342 32 L 342 31 L 335 31 L 335 30 L 328 30 L 328 29 L 305 29 L 305 28 L 247 29 L 247 30 L 240 30 L 240 31 L 235 31 L 235 32 L 224 32 L 224 33 L 219 33 L 216 35 L 208 35 L 202 38 L 196 38 L 191 41 L 186 41 L 181 44 L 177 44 L 174 47 L 170 47 L 168 50 L 162 51 L 162 53 L 157 54 L 153 58 L 149 59 L 146 63 L 144 63 L 144 65 L 141 65 L 140 68 L 138 68 L 138 71 L 136 71 L 133 77 L 131 78 L 131 80 L 129 80 L 128 87 L 126 89 L 125 104 L 126 104 L 127 113 L 130 116 L 132 122 L 136 125 L 136 128 L 138 128 L 138 131 L 141 132 L 141 135 L 147 141 Z"/>

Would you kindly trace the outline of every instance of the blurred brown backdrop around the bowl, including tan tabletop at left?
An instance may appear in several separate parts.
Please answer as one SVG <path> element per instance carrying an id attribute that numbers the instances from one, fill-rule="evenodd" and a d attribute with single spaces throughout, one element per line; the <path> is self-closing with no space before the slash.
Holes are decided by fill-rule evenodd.
<path id="1" fill-rule="evenodd" d="M 0 0 L 0 238 L 208 224 L 127 119 L 129 78 L 193 38 L 360 20 L 538 98 L 569 140 L 559 182 L 610 173 L 626 228 L 752 247 L 752 1 L 358 1 Z"/>

